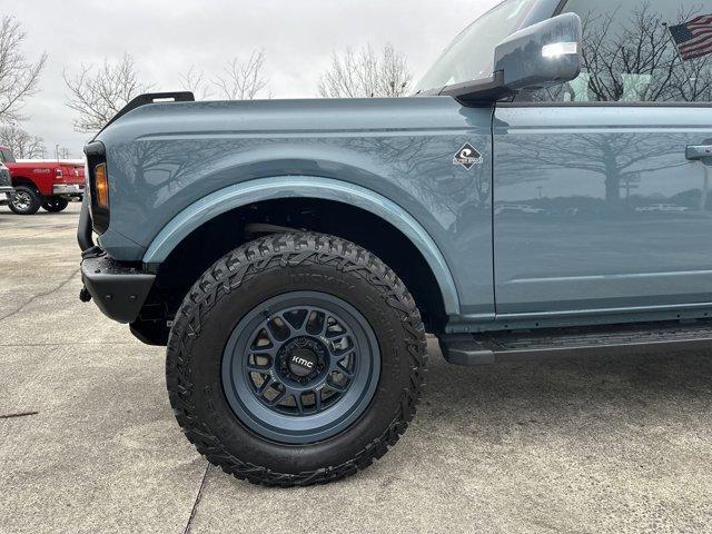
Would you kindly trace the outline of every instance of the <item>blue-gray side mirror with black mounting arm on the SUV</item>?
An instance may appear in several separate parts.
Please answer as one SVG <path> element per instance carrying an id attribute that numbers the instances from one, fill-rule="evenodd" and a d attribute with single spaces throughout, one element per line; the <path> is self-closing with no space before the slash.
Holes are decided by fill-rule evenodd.
<path id="1" fill-rule="evenodd" d="M 446 87 L 464 103 L 492 103 L 517 91 L 543 89 L 575 79 L 581 72 L 582 24 L 564 13 L 518 30 L 494 52 L 492 78 Z"/>

